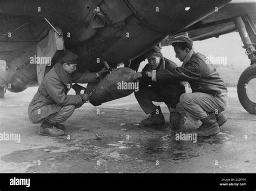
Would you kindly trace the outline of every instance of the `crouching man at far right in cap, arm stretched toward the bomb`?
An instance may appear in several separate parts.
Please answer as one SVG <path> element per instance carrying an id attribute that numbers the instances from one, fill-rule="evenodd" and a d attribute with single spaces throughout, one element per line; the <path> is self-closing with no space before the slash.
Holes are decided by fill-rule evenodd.
<path id="1" fill-rule="evenodd" d="M 228 104 L 227 88 L 223 79 L 212 64 L 206 63 L 203 54 L 193 51 L 193 41 L 190 38 L 179 37 L 172 42 L 172 46 L 176 57 L 183 62 L 181 67 L 153 70 L 147 76 L 152 81 L 188 81 L 192 93 L 180 96 L 176 110 L 194 124 L 201 120 L 202 125 L 195 131 L 198 136 L 219 133 L 219 127 L 227 121 L 222 113 Z"/>

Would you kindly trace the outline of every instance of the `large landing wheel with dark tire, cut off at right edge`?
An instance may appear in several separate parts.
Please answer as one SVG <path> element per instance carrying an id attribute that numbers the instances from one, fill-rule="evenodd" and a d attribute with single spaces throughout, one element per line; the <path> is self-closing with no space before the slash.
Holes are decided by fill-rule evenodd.
<path id="1" fill-rule="evenodd" d="M 251 114 L 256 114 L 256 64 L 242 72 L 237 85 L 237 93 L 242 107 Z"/>

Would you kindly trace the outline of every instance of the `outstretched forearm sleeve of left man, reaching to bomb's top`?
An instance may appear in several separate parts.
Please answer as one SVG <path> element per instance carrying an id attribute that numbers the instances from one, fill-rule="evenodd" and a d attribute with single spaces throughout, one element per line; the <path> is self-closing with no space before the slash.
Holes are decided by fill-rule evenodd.
<path id="1" fill-rule="evenodd" d="M 72 83 L 80 83 L 80 84 L 86 84 L 86 83 L 93 83 L 97 82 L 98 80 L 96 79 L 96 73 L 92 72 L 87 72 L 87 73 L 79 73 L 79 72 L 74 72 L 71 74 L 72 78 Z"/>

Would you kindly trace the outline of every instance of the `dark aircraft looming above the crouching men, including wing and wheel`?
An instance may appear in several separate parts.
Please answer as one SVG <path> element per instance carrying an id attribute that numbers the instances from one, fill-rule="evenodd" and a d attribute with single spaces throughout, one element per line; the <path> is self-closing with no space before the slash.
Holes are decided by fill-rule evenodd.
<path id="1" fill-rule="evenodd" d="M 181 35 L 204 40 L 238 31 L 251 61 L 238 81 L 238 97 L 256 114 L 255 10 L 255 1 L 238 0 L 1 0 L 0 97 L 5 90 L 38 86 L 64 50 L 79 56 L 80 73 L 120 64 L 138 70 L 142 55 L 157 44 L 170 45 Z M 116 78 L 124 75 L 116 72 Z M 93 105 L 130 93 L 119 91 Z"/>

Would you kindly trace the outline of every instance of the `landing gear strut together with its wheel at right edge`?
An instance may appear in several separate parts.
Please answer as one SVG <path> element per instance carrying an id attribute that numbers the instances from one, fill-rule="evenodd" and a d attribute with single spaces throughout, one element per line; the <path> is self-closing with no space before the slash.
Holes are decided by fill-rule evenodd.
<path id="1" fill-rule="evenodd" d="M 245 53 L 251 60 L 251 66 L 242 72 L 237 85 L 237 93 L 242 107 L 251 114 L 256 114 L 256 41 L 255 26 L 249 16 L 236 17 L 234 23 L 244 43 Z"/>

